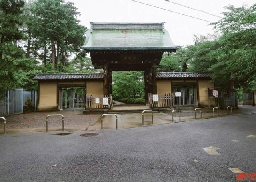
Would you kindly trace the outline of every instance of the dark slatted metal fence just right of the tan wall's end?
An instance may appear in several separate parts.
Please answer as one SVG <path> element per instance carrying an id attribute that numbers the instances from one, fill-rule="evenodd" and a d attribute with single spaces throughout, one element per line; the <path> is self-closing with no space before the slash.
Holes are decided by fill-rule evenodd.
<path id="1" fill-rule="evenodd" d="M 237 106 L 237 92 L 219 92 L 220 108 L 226 110 L 228 106 L 238 108 Z"/>

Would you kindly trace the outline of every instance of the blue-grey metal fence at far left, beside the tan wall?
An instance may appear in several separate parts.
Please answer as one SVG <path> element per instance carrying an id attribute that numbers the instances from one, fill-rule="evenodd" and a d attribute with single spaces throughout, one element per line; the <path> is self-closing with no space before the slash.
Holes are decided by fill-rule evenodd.
<path id="1" fill-rule="evenodd" d="M 0 94 L 0 115 L 12 115 L 23 113 L 23 107 L 32 104 L 33 110 L 37 110 L 37 90 L 11 89 Z"/>

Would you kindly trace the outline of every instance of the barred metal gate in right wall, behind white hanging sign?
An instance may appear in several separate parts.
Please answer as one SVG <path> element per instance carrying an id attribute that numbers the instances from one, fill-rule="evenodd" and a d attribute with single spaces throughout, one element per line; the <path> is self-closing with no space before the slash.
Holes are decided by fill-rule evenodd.
<path id="1" fill-rule="evenodd" d="M 195 105 L 196 94 L 194 86 L 173 86 L 173 92 L 181 92 L 180 97 L 174 97 L 174 104 L 179 106 Z"/>

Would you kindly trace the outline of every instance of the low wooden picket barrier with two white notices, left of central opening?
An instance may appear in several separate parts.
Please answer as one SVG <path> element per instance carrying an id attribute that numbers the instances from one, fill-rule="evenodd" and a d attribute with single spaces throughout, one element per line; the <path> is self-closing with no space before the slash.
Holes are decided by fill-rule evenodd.
<path id="1" fill-rule="evenodd" d="M 109 94 L 109 96 L 92 96 L 86 95 L 85 100 L 85 109 L 113 109 L 113 96 Z"/>

